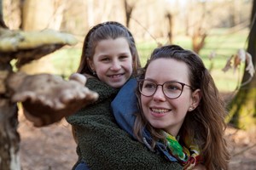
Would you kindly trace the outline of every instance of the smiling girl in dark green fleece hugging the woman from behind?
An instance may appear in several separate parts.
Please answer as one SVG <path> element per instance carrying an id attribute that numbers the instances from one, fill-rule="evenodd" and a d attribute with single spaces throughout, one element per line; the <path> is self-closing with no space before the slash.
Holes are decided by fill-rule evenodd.
<path id="1" fill-rule="evenodd" d="M 134 39 L 125 26 L 106 22 L 86 35 L 78 72 L 88 77 L 86 87 L 99 99 L 67 117 L 78 144 L 73 169 L 182 169 L 148 152 L 115 122 L 110 103 L 138 65 Z"/>

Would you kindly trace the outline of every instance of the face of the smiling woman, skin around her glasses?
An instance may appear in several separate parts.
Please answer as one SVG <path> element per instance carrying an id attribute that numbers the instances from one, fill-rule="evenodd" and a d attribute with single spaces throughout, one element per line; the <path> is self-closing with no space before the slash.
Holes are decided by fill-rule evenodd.
<path id="1" fill-rule="evenodd" d="M 188 66 L 176 59 L 153 60 L 148 65 L 145 79 L 157 84 L 176 81 L 190 85 Z M 191 111 L 189 108 L 194 105 L 193 95 L 191 89 L 184 86 L 182 94 L 177 99 L 169 99 L 163 94 L 162 87 L 158 86 L 154 95 L 150 97 L 141 94 L 143 114 L 153 127 L 177 136 L 187 112 Z"/>

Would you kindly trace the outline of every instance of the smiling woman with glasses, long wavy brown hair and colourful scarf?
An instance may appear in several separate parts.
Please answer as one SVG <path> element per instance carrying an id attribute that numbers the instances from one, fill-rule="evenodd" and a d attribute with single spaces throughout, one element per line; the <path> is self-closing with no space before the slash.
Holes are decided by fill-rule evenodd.
<path id="1" fill-rule="evenodd" d="M 121 127 L 184 169 L 228 169 L 224 102 L 197 54 L 176 45 L 154 49 L 138 77 L 136 117 L 134 86 L 127 82 L 112 103 Z"/>

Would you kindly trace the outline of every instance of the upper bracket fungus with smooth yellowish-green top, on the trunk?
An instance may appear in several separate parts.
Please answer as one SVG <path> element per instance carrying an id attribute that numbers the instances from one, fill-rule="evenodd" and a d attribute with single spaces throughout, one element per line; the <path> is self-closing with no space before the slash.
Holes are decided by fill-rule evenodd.
<path id="1" fill-rule="evenodd" d="M 64 45 L 77 42 L 72 35 L 54 30 L 11 31 L 0 27 L 0 64 L 17 59 L 16 66 L 19 68 Z"/>

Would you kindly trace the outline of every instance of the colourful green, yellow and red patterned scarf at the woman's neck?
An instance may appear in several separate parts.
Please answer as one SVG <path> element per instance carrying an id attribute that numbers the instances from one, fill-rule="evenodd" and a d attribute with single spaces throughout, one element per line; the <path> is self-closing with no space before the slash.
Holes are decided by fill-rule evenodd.
<path id="1" fill-rule="evenodd" d="M 169 133 L 164 132 L 167 140 L 167 147 L 172 156 L 183 165 L 184 169 L 192 169 L 201 162 L 200 150 L 198 145 L 191 144 L 189 139 L 185 139 L 185 145 L 182 146 L 177 139 Z"/>

